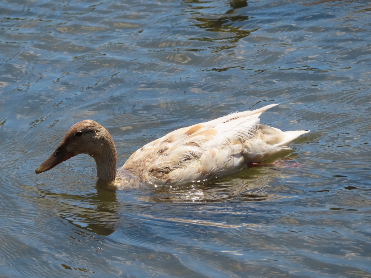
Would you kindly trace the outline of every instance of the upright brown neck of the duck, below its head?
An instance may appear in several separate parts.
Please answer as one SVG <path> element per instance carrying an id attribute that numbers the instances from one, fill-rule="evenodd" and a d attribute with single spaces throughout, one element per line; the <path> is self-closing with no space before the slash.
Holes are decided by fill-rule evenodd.
<path id="1" fill-rule="evenodd" d="M 116 178 L 117 152 L 113 140 L 104 144 L 101 152 L 94 155 L 96 176 L 101 181 L 114 181 Z"/>

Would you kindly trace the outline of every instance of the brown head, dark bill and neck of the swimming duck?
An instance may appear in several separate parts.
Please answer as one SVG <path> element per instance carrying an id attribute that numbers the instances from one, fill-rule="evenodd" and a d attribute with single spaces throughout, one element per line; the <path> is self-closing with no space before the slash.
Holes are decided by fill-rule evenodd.
<path id="1" fill-rule="evenodd" d="M 73 125 L 55 152 L 35 172 L 48 171 L 80 153 L 95 159 L 98 178 L 106 181 L 115 179 L 117 154 L 114 141 L 109 132 L 93 120 L 83 120 Z"/>

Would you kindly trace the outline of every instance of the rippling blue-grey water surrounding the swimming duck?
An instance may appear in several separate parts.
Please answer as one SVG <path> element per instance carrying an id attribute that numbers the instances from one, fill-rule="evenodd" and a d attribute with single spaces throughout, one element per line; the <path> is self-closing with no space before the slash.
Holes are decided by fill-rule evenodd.
<path id="1" fill-rule="evenodd" d="M 1 277 L 371 277 L 369 1 L 1 1 Z M 175 189 L 95 187 L 75 122 L 121 166 L 171 130 L 281 103 L 310 129 L 254 168 Z M 297 165 L 300 165 L 299 167 Z"/>

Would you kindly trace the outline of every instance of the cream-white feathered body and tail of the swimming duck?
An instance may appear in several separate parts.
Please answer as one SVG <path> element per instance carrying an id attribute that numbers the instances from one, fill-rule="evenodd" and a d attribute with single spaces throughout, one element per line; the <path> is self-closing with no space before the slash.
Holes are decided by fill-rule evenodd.
<path id="1" fill-rule="evenodd" d="M 182 185 L 240 171 L 305 133 L 286 138 L 279 129 L 260 125 L 259 116 L 276 105 L 174 130 L 134 152 L 122 168 L 138 172 L 141 179 L 157 186 Z M 282 138 L 285 142 L 280 143 Z"/>

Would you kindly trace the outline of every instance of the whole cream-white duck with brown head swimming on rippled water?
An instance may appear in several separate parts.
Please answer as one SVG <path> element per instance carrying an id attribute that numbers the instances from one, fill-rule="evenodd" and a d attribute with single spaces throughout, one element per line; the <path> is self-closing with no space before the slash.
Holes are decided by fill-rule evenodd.
<path id="1" fill-rule="evenodd" d="M 260 124 L 260 115 L 278 104 L 180 128 L 135 151 L 116 171 L 117 151 L 108 130 L 94 120 L 73 125 L 53 154 L 37 169 L 48 171 L 81 153 L 96 162 L 98 181 L 144 182 L 155 187 L 204 182 L 262 164 L 292 150 L 288 145 L 309 130 L 282 131 Z"/>

